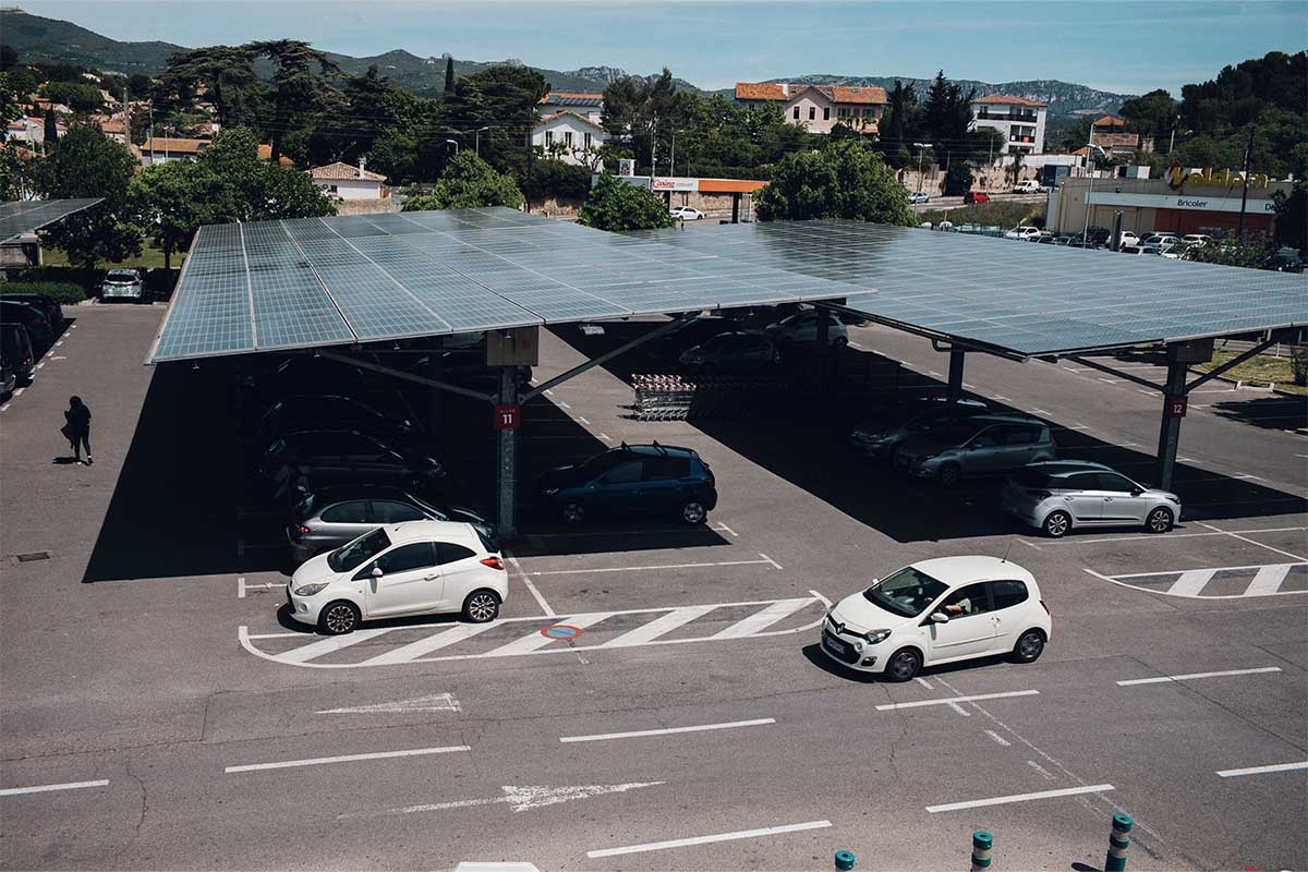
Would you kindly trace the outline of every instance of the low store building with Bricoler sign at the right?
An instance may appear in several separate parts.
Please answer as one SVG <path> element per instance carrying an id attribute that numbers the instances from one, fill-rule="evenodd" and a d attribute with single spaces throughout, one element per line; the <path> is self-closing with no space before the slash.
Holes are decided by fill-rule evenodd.
<path id="1" fill-rule="evenodd" d="M 1173 184 L 1175 183 L 1175 184 Z M 1244 230 L 1250 238 L 1271 234 L 1275 220 L 1273 193 L 1290 193 L 1290 182 L 1249 179 L 1244 207 Z M 1146 233 L 1205 233 L 1232 237 L 1240 225 L 1239 173 L 1179 173 L 1165 179 L 1087 179 L 1067 178 L 1049 195 L 1049 229 L 1080 233 L 1086 224 L 1090 197 L 1090 226 L 1110 227 L 1113 216 L 1122 213 L 1122 229 Z"/>

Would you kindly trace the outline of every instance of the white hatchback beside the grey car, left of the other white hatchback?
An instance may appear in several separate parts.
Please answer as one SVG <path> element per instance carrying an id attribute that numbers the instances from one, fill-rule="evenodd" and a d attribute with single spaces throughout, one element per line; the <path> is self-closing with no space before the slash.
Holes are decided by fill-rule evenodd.
<path id="1" fill-rule="evenodd" d="M 494 540 L 450 520 L 378 527 L 307 561 L 286 584 L 290 617 L 328 635 L 369 618 L 433 612 L 462 612 L 464 621 L 484 624 L 508 595 Z"/>

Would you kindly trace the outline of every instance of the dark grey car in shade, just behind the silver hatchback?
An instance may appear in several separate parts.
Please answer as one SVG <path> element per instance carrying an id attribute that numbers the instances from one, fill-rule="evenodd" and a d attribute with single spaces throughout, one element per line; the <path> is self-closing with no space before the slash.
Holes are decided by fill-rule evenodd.
<path id="1" fill-rule="evenodd" d="M 952 486 L 968 476 L 1018 469 L 1058 456 L 1049 425 L 1022 414 L 977 414 L 906 439 L 895 467 Z"/>

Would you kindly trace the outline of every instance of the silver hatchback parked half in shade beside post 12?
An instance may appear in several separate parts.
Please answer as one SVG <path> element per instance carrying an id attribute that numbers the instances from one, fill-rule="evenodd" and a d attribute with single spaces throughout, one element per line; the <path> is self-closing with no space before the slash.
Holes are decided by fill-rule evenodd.
<path id="1" fill-rule="evenodd" d="M 1003 510 L 1058 539 L 1078 527 L 1139 527 L 1165 533 L 1181 516 L 1181 499 L 1088 460 L 1033 463 L 1008 480 Z"/>

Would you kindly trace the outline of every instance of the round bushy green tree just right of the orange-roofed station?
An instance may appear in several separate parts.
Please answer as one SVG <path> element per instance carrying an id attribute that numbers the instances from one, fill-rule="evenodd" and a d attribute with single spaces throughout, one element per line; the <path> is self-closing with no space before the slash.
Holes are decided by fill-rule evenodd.
<path id="1" fill-rule="evenodd" d="M 909 226 L 904 186 L 859 140 L 828 143 L 821 152 L 787 154 L 756 199 L 759 218 L 854 218 Z"/>

